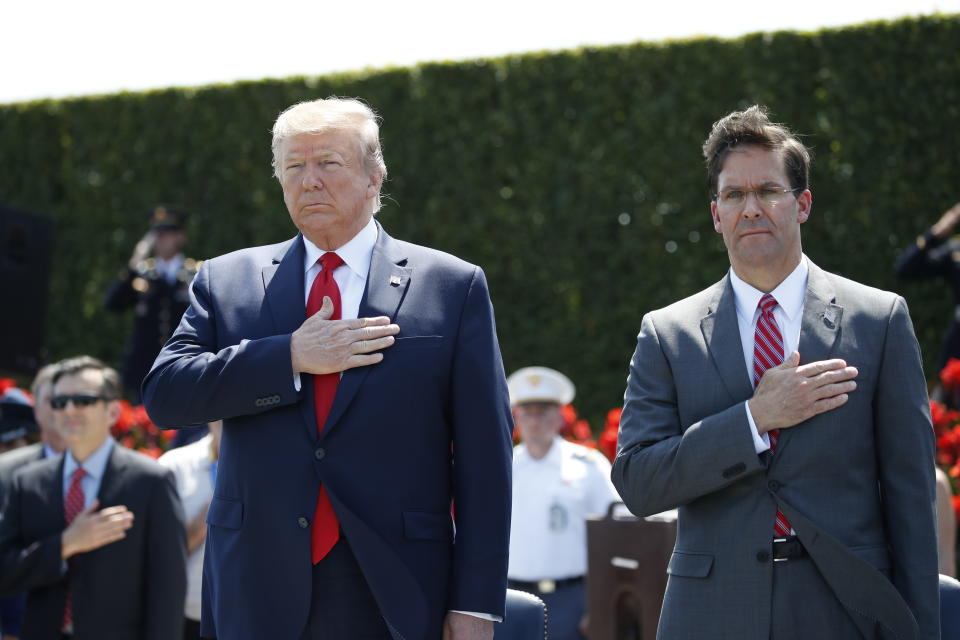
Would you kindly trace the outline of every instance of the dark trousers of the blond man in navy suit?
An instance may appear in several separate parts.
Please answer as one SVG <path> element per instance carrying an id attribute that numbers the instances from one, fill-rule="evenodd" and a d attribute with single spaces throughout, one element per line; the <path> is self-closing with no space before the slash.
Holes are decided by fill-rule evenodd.
<path id="1" fill-rule="evenodd" d="M 313 565 L 310 619 L 301 640 L 392 640 L 350 544 L 340 540 Z"/>

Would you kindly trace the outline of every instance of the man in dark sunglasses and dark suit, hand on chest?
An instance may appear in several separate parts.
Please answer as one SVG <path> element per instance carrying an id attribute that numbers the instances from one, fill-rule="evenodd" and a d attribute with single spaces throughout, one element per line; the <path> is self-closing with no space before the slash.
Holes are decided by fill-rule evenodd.
<path id="1" fill-rule="evenodd" d="M 81 356 L 54 375 L 63 456 L 13 478 L 0 518 L 0 594 L 27 591 L 24 638 L 182 634 L 183 511 L 170 472 L 110 437 L 117 372 Z"/>

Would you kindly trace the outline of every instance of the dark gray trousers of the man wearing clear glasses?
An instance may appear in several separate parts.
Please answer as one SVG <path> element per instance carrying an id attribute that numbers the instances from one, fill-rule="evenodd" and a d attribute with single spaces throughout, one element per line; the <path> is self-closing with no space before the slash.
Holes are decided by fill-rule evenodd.
<path id="1" fill-rule="evenodd" d="M 770 640 L 863 640 L 809 556 L 773 563 Z"/>

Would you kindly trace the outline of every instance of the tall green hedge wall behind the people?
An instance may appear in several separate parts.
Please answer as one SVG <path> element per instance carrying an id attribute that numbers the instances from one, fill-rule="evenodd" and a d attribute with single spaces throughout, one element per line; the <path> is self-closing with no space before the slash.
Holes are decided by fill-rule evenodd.
<path id="1" fill-rule="evenodd" d="M 937 16 L 8 105 L 0 199 L 56 219 L 49 358 L 118 362 L 129 317 L 100 299 L 147 208 L 191 209 L 196 257 L 290 237 L 269 128 L 295 101 L 360 96 L 384 118 L 387 230 L 482 265 L 507 370 L 567 372 L 596 424 L 643 313 L 727 267 L 700 146 L 754 102 L 814 148 L 807 253 L 906 295 L 934 361 L 947 288 L 892 264 L 960 199 L 957 43 L 960 16 Z"/>

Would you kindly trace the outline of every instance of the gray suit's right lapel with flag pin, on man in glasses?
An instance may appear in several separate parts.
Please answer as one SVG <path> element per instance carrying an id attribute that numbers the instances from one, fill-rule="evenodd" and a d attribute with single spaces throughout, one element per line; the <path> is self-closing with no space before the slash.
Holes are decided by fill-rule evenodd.
<path id="1" fill-rule="evenodd" d="M 808 258 L 807 292 L 803 299 L 803 321 L 800 325 L 800 364 L 829 360 L 840 338 L 843 307 L 836 304 L 836 294 L 827 273 Z M 790 445 L 796 429 L 780 431 L 777 453 Z M 777 456 L 774 456 L 774 460 Z"/>

